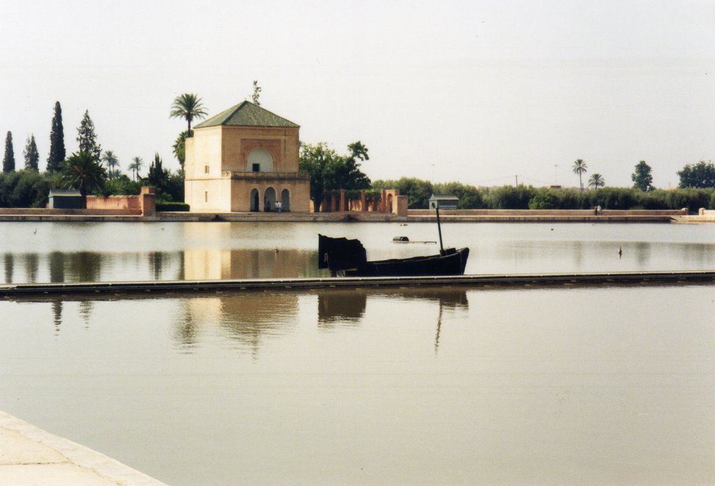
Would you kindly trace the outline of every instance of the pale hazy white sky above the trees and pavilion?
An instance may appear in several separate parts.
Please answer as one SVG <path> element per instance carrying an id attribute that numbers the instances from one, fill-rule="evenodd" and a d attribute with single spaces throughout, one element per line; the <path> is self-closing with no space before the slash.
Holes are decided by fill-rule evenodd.
<path id="1" fill-rule="evenodd" d="M 371 179 L 478 186 L 654 185 L 715 159 L 715 1 L 3 0 L 0 142 L 44 169 L 55 101 L 67 153 L 85 110 L 122 169 L 185 127 L 174 97 L 209 116 L 245 99 L 338 153 L 360 140 Z M 4 153 L 4 152 L 3 152 Z"/>

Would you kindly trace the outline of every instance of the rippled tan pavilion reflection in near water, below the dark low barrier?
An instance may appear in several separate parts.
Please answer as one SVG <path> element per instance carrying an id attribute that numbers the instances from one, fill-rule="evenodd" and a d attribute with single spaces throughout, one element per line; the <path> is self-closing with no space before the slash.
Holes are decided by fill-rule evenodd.
<path id="1" fill-rule="evenodd" d="M 202 329 L 216 327 L 255 353 L 264 336 L 284 334 L 297 320 L 296 292 L 235 292 L 221 297 L 186 299 L 187 312 L 174 333 L 184 346 Z"/>

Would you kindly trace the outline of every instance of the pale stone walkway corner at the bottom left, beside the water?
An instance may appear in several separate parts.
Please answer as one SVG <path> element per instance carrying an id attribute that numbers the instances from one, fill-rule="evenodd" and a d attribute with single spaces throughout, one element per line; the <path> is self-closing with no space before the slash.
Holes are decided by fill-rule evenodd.
<path id="1" fill-rule="evenodd" d="M 111 457 L 0 412 L 0 485 L 157 486 Z"/>

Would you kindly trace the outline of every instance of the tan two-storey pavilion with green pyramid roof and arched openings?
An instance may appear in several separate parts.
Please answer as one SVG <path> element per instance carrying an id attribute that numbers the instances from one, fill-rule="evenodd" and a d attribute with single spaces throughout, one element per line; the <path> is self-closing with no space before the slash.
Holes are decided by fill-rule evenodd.
<path id="1" fill-rule="evenodd" d="M 184 199 L 192 212 L 310 211 L 299 172 L 300 127 L 250 101 L 197 124 L 186 139 Z"/>

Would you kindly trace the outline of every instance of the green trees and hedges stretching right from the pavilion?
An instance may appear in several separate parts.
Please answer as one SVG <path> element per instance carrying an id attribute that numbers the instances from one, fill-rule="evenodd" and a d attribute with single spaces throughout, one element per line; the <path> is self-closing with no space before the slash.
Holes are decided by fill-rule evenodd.
<path id="1" fill-rule="evenodd" d="M 573 164 L 573 172 L 579 177 L 578 189 L 524 185 L 478 188 L 415 177 L 372 182 L 360 169 L 360 163 L 370 159 L 368 147 L 358 141 L 347 149 L 347 154 L 338 154 L 325 142 L 301 145 L 300 171 L 310 174 L 310 199 L 316 211 L 325 196 L 339 189 L 398 189 L 408 197 L 410 209 L 427 209 L 432 194 L 454 194 L 459 198 L 459 209 L 715 209 L 715 167 L 709 162 L 686 165 L 678 172 L 679 188 L 670 190 L 653 186 L 652 169 L 641 160 L 631 174 L 633 187 L 606 187 L 603 176 L 594 173 L 587 184 L 591 190 L 584 191 L 583 174 L 588 167 L 583 159 Z"/>

